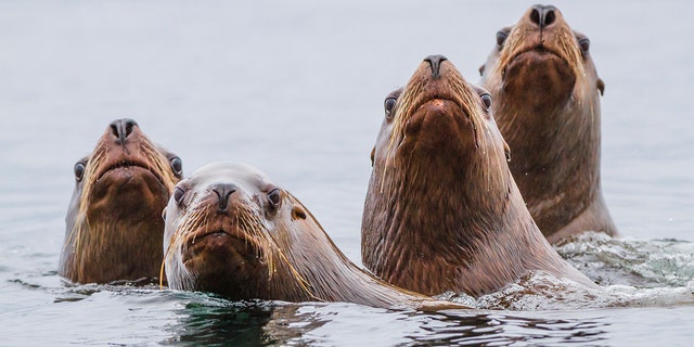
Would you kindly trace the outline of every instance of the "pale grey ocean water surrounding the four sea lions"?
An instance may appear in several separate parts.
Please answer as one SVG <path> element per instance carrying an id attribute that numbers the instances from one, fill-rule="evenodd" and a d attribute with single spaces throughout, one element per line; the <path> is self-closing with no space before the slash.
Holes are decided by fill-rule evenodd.
<path id="1" fill-rule="evenodd" d="M 600 293 L 532 274 L 476 300 L 447 294 L 475 310 L 423 313 L 56 275 L 73 165 L 126 116 L 185 172 L 261 168 L 359 264 L 383 98 L 429 54 L 476 81 L 497 30 L 531 4 L 0 2 L 0 346 L 691 345 L 690 1 L 554 2 L 591 39 L 606 83 L 603 190 L 624 237 L 557 246 Z"/>

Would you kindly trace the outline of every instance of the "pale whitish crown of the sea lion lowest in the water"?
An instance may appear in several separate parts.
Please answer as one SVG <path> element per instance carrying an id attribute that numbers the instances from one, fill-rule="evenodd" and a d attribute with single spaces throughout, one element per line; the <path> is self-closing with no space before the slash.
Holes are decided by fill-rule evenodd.
<path id="1" fill-rule="evenodd" d="M 272 187 L 272 180 L 258 168 L 234 162 L 215 162 L 195 170 L 189 178 L 196 187 L 216 183 L 233 183 L 247 192 L 266 191 Z"/>

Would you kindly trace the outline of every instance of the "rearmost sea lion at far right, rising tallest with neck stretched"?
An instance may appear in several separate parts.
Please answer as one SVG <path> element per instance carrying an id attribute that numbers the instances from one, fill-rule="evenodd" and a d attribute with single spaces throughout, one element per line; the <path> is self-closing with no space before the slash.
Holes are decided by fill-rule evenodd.
<path id="1" fill-rule="evenodd" d="M 511 172 L 550 243 L 583 231 L 617 235 L 600 183 L 600 94 L 590 41 L 552 5 L 497 34 L 481 82 L 513 151 Z"/>

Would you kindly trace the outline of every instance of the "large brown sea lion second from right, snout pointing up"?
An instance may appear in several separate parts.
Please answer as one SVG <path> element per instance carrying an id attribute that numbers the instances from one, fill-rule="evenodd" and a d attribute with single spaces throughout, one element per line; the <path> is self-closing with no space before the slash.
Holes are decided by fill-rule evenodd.
<path id="1" fill-rule="evenodd" d="M 385 99 L 372 151 L 362 259 L 386 282 L 479 296 L 528 271 L 594 286 L 564 261 L 525 207 L 491 97 L 432 55 Z"/>

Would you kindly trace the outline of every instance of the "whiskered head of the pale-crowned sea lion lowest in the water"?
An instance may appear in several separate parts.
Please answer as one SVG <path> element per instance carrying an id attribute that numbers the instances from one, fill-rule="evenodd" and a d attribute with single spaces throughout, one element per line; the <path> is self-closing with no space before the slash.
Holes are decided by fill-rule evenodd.
<path id="1" fill-rule="evenodd" d="M 292 271 L 275 266 L 286 266 L 283 250 L 300 236 L 287 223 L 305 220 L 306 211 L 265 174 L 243 164 L 206 165 L 175 188 L 165 219 L 170 287 L 282 299 L 272 286 Z"/>

